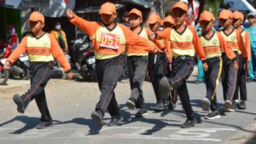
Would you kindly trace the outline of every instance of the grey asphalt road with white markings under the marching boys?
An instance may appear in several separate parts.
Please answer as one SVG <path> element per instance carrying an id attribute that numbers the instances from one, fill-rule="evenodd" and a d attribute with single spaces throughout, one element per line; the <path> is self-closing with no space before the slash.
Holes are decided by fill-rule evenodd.
<path id="1" fill-rule="evenodd" d="M 247 84 L 246 110 L 221 113 L 221 118 L 205 120 L 204 116 L 207 113 L 202 111 L 202 99 L 206 93 L 205 84 L 194 84 L 193 79 L 195 77 L 191 77 L 188 81 L 188 90 L 198 124 L 191 129 L 180 129 L 180 125 L 186 120 L 180 100 L 175 110 L 154 112 L 152 107 L 156 103 L 156 98 L 152 85 L 147 82 L 143 86 L 143 94 L 147 102 L 148 116 L 136 118 L 134 116 L 136 109 L 127 109 L 125 102 L 131 92 L 129 84 L 118 83 L 116 99 L 124 116 L 124 122 L 120 126 L 108 127 L 110 116 L 106 114 L 105 125 L 101 128 L 97 127 L 90 118 L 99 100 L 97 83 L 58 79 L 52 79 L 46 88 L 54 126 L 42 130 L 36 129 L 36 124 L 40 122 L 40 114 L 35 102 L 31 102 L 29 113 L 25 115 L 17 113 L 12 102 L 11 94 L 15 93 L 13 91 L 21 94 L 29 85 L 21 90 L 13 88 L 10 95 L 6 92 L 1 95 L 4 90 L 11 89 L 12 81 L 10 81 L 9 87 L 6 86 L 4 89 L 0 87 L 0 97 L 4 97 L 1 101 L 6 102 L 7 107 L 0 108 L 0 113 L 10 111 L 10 115 L 4 114 L 5 117 L 0 119 L 0 143 L 245 143 L 252 134 L 256 133 L 256 83 Z M 19 83 L 22 84 L 22 81 Z M 52 95 L 54 97 L 57 95 L 58 99 L 51 98 Z M 221 109 L 224 106 L 221 84 L 217 90 L 217 97 Z M 7 102 L 12 105 L 9 106 Z"/>

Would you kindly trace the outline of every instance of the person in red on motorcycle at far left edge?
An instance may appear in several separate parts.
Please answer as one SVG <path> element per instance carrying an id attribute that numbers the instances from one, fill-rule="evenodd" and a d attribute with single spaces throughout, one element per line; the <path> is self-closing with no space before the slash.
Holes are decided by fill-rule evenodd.
<path id="1" fill-rule="evenodd" d="M 15 26 L 8 27 L 8 42 L 7 47 L 4 49 L 5 55 L 10 55 L 12 51 L 19 45 L 19 38 L 15 30 Z"/>

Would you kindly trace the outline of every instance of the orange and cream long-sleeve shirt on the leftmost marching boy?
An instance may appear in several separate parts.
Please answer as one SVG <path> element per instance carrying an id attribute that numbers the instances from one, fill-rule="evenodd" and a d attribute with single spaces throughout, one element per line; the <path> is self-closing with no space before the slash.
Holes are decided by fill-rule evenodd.
<path id="1" fill-rule="evenodd" d="M 8 57 L 10 63 L 14 63 L 24 52 L 28 52 L 29 61 L 49 62 L 54 58 L 60 62 L 61 67 L 67 72 L 71 69 L 60 45 L 49 33 L 44 33 L 40 38 L 28 35 L 22 38 L 20 45 Z"/>

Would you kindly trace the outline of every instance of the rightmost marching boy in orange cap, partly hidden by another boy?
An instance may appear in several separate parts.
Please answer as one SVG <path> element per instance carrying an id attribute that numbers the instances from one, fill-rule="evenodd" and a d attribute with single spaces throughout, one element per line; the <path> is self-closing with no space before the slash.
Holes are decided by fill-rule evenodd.
<path id="1" fill-rule="evenodd" d="M 248 54 L 248 61 L 251 59 L 251 45 L 250 45 L 250 36 L 247 31 L 244 31 L 242 28 L 242 24 L 244 21 L 244 15 L 241 12 L 235 11 L 233 13 L 233 22 L 232 25 L 235 29 L 241 32 L 241 36 L 243 38 L 244 47 L 246 48 Z M 247 100 L 247 92 L 246 92 L 246 69 L 244 67 L 246 61 L 243 61 L 243 57 L 239 54 L 239 68 L 237 72 L 237 83 L 236 90 L 234 93 L 234 97 L 232 100 L 232 109 L 246 109 L 245 101 Z M 240 100 L 238 103 L 238 91 L 240 89 Z"/>

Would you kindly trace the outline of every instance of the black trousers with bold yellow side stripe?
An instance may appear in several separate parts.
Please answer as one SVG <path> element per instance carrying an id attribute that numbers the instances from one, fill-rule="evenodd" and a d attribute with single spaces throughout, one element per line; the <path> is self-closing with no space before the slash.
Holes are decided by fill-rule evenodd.
<path id="1" fill-rule="evenodd" d="M 220 76 L 222 70 L 222 60 L 218 58 L 209 58 L 206 60 L 208 70 L 204 71 L 204 79 L 206 86 L 206 98 L 211 102 L 211 110 L 217 109 L 216 90 L 220 83 Z"/>

